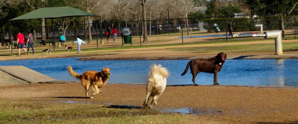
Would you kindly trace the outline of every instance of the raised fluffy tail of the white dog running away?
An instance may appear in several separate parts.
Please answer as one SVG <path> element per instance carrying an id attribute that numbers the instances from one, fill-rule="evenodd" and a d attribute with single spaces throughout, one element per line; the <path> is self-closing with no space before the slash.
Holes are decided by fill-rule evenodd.
<path id="1" fill-rule="evenodd" d="M 150 65 L 149 78 L 154 76 L 154 74 L 160 74 L 163 78 L 167 78 L 170 75 L 166 67 L 161 67 L 160 64 L 157 66 L 155 63 Z"/>

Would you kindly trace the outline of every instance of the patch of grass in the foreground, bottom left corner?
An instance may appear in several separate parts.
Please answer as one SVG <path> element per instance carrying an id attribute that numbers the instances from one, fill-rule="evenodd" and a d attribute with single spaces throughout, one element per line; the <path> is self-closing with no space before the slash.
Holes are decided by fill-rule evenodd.
<path id="1" fill-rule="evenodd" d="M 123 109 L 96 104 L 0 102 L 0 123 L 185 123 L 188 116 L 154 109 Z"/>

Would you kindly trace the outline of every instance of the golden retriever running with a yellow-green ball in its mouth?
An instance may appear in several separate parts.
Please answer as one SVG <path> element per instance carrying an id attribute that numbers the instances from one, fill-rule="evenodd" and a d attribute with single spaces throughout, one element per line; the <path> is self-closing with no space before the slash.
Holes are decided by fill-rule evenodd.
<path id="1" fill-rule="evenodd" d="M 85 87 L 86 96 L 91 99 L 93 99 L 93 96 L 95 94 L 102 92 L 101 90 L 98 90 L 98 89 L 106 85 L 106 82 L 108 82 L 111 76 L 110 68 L 107 68 L 107 67 L 103 68 L 102 71 L 100 72 L 90 70 L 90 71 L 84 72 L 82 75 L 73 71 L 71 66 L 68 66 L 67 71 L 69 72 L 70 76 L 77 78 L 81 81 L 82 85 Z M 91 97 L 89 97 L 88 89 L 89 89 L 89 86 L 91 85 L 94 87 L 96 91 L 91 95 Z"/>

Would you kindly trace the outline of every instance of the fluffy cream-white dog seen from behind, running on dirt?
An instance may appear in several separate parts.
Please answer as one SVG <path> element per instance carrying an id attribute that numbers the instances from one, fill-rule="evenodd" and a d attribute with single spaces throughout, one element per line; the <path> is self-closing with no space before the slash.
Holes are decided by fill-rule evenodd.
<path id="1" fill-rule="evenodd" d="M 157 104 L 157 98 L 164 92 L 165 85 L 167 84 L 167 77 L 169 76 L 169 71 L 165 67 L 161 67 L 160 64 L 158 66 L 154 63 L 150 65 L 149 77 L 146 86 L 146 99 L 143 103 L 144 108 L 148 107 L 148 101 L 150 97 L 152 97 L 150 108 L 152 107 L 152 103 L 154 105 Z M 150 96 L 150 97 L 149 97 Z"/>

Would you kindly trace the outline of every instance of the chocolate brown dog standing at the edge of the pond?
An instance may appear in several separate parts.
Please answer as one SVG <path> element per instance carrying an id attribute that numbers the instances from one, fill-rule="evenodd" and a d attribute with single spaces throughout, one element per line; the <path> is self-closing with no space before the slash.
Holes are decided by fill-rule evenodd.
<path id="1" fill-rule="evenodd" d="M 187 66 L 181 76 L 186 74 L 188 67 L 190 66 L 190 70 L 192 72 L 192 82 L 195 86 L 197 86 L 195 82 L 196 75 L 199 72 L 214 73 L 213 85 L 219 85 L 219 83 L 217 83 L 217 73 L 223 67 L 226 58 L 226 53 L 218 53 L 217 56 L 208 59 L 195 58 L 187 63 Z"/>

